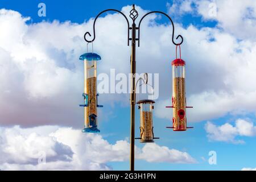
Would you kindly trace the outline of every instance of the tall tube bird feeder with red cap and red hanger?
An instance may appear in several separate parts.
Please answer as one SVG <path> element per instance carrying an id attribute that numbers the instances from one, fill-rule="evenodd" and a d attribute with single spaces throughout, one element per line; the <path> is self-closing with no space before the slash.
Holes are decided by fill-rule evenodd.
<path id="1" fill-rule="evenodd" d="M 166 106 L 173 108 L 172 127 L 174 131 L 185 131 L 187 127 L 187 113 L 186 108 L 192 108 L 187 106 L 185 96 L 185 61 L 177 59 L 177 47 L 176 47 L 176 59 L 172 61 L 172 106 Z"/>

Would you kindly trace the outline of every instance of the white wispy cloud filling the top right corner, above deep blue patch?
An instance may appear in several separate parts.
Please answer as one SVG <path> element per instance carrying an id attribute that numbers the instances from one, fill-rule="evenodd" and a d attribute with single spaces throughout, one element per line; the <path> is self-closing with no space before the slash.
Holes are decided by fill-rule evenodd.
<path id="1" fill-rule="evenodd" d="M 238 39 L 256 40 L 256 2 L 254 0 L 185 0 L 167 3 L 168 13 L 200 15 L 204 21 L 215 20 L 217 27 Z M 229 9 L 229 11 L 226 11 Z"/>

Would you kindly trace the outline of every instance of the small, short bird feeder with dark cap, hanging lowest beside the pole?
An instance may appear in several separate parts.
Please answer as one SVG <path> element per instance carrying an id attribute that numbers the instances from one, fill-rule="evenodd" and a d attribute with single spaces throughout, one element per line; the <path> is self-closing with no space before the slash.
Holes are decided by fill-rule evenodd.
<path id="1" fill-rule="evenodd" d="M 140 100 L 137 102 L 138 109 L 140 110 L 140 120 L 141 126 L 139 129 L 141 130 L 141 137 L 135 138 L 140 139 L 141 143 L 154 142 L 154 132 L 153 132 L 153 109 L 155 101 L 152 100 Z"/>

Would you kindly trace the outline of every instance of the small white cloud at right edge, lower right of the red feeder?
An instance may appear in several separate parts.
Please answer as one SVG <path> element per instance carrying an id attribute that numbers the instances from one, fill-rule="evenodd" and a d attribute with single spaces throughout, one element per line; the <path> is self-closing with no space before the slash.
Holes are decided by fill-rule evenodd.
<path id="1" fill-rule="evenodd" d="M 212 141 L 245 143 L 243 140 L 237 140 L 236 137 L 254 137 L 256 135 L 256 126 L 253 122 L 244 119 L 237 119 L 235 126 L 230 123 L 225 123 L 221 126 L 216 126 L 212 122 L 205 124 L 207 137 Z"/>

